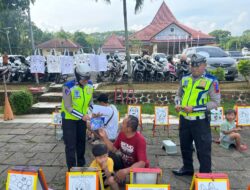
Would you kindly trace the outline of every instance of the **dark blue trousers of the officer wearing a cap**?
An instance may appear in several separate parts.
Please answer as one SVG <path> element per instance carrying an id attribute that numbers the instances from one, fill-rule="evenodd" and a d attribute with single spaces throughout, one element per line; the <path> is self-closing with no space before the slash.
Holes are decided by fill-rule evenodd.
<path id="1" fill-rule="evenodd" d="M 193 168 L 193 141 L 200 162 L 200 172 L 211 172 L 211 145 L 212 135 L 210 122 L 207 118 L 187 120 L 180 116 L 179 129 L 183 169 L 194 171 Z"/>

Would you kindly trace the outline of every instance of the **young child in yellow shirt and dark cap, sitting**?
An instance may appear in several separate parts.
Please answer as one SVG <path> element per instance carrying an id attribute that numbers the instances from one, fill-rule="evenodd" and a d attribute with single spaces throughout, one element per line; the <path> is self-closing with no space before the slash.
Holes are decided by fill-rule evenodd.
<path id="1" fill-rule="evenodd" d="M 108 157 L 108 148 L 104 144 L 96 144 L 92 148 L 92 154 L 95 159 L 90 164 L 90 167 L 97 168 L 102 171 L 102 178 L 105 190 L 119 190 L 119 186 L 114 178 L 114 162 Z"/>

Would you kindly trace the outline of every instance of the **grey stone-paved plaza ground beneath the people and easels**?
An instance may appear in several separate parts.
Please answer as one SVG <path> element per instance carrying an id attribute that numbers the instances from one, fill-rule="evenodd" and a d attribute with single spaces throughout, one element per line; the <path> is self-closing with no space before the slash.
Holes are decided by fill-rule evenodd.
<path id="1" fill-rule="evenodd" d="M 13 121 L 3 122 L 0 118 L 0 190 L 5 189 L 7 170 L 16 165 L 39 166 L 44 170 L 49 186 L 54 190 L 65 189 L 64 144 L 55 139 L 54 128 L 49 125 L 50 115 L 28 115 Z M 152 117 L 143 117 L 143 123 L 151 123 Z M 144 124 L 143 135 L 147 140 L 147 154 L 151 167 L 163 170 L 163 182 L 170 183 L 172 190 L 189 189 L 191 177 L 176 177 L 171 170 L 182 166 L 178 140 L 177 120 L 172 118 L 169 138 L 177 144 L 178 153 L 167 155 L 161 149 L 161 142 L 168 139 L 167 130 L 158 127 L 152 137 L 152 124 Z M 245 143 L 250 146 L 250 128 L 242 131 Z M 218 133 L 213 130 L 214 138 Z M 92 160 L 91 146 L 87 143 L 86 159 Z M 194 155 L 196 171 L 199 164 Z M 246 190 L 250 184 L 250 151 L 239 153 L 235 149 L 226 150 L 218 144 L 212 147 L 212 169 L 229 175 L 231 189 Z"/>

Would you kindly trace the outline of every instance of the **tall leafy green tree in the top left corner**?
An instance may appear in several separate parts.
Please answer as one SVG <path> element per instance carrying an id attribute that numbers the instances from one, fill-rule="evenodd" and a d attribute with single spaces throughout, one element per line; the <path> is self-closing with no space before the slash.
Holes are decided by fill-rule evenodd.
<path id="1" fill-rule="evenodd" d="M 0 1 L 0 52 L 9 52 L 10 47 L 13 54 L 28 54 L 29 27 L 28 9 L 32 0 L 1 0 Z"/>

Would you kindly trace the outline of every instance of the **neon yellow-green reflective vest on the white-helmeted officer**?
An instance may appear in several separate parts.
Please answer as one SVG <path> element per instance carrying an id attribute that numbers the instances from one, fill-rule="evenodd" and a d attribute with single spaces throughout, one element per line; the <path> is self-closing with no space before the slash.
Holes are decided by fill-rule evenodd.
<path id="1" fill-rule="evenodd" d="M 74 110 L 82 113 L 83 115 L 87 114 L 89 103 L 93 95 L 93 86 L 85 85 L 84 88 L 81 88 L 79 85 L 73 86 L 71 89 L 71 98 L 72 98 L 72 107 Z M 64 106 L 64 100 L 62 100 L 62 114 L 65 115 L 65 119 L 79 120 L 71 113 L 69 113 Z"/>

